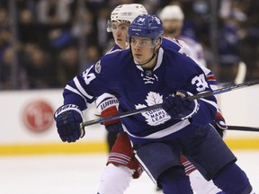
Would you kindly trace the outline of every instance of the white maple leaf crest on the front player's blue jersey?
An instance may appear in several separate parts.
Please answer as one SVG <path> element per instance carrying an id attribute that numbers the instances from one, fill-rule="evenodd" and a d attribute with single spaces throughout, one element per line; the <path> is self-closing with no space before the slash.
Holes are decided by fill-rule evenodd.
<path id="1" fill-rule="evenodd" d="M 158 103 L 163 102 L 163 95 L 159 93 L 149 92 L 147 93 L 147 99 L 145 100 L 148 106 L 153 106 Z M 142 109 L 147 107 L 145 104 L 135 105 L 136 109 Z M 145 117 L 147 124 L 150 126 L 156 126 L 165 123 L 166 120 L 171 119 L 171 117 L 163 109 L 148 110 L 141 113 Z"/>

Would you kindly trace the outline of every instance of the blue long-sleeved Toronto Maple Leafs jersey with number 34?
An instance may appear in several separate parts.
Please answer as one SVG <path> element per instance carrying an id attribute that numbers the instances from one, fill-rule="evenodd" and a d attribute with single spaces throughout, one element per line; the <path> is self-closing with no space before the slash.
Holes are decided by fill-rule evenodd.
<path id="1" fill-rule="evenodd" d="M 119 112 L 124 112 L 162 103 L 177 90 L 192 94 L 211 91 L 201 67 L 164 40 L 152 70 L 136 66 L 129 49 L 116 49 L 101 57 L 96 64 L 68 82 L 63 93 L 64 104 L 76 104 L 85 110 L 98 96 L 111 93 L 120 103 Z M 179 136 L 181 131 L 192 129 L 193 125 L 208 125 L 214 119 L 216 98 L 210 96 L 198 102 L 200 109 L 191 119 L 174 119 L 165 110 L 157 109 L 121 121 L 133 143 Z"/>

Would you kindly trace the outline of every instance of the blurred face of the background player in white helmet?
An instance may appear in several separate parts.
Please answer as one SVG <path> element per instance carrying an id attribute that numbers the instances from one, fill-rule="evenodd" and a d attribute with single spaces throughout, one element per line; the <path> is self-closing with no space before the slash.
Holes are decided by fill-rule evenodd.
<path id="1" fill-rule="evenodd" d="M 166 36 L 177 38 L 181 34 L 183 22 L 179 20 L 164 20 L 163 27 Z"/>

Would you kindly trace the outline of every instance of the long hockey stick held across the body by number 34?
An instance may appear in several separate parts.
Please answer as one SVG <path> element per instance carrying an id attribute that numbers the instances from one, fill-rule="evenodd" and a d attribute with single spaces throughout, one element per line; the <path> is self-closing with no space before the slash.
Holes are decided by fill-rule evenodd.
<path id="1" fill-rule="evenodd" d="M 248 86 L 255 85 L 255 84 L 259 84 L 259 80 L 249 81 L 249 82 L 246 82 L 246 83 L 243 83 L 243 84 L 234 84 L 234 85 L 224 87 L 224 88 L 220 88 L 218 90 L 210 91 L 210 92 L 207 92 L 207 93 L 199 93 L 199 94 L 196 94 L 196 95 L 189 96 L 187 99 L 190 100 L 190 101 L 193 101 L 193 100 L 208 97 L 208 96 L 211 96 L 211 95 L 217 95 L 219 93 L 228 93 L 230 91 L 241 89 L 241 88 L 248 87 Z M 103 122 L 113 120 L 113 119 L 122 119 L 122 118 L 129 117 L 129 116 L 132 116 L 132 115 L 136 115 L 136 114 L 139 114 L 141 112 L 148 111 L 148 110 L 156 110 L 156 109 L 161 109 L 161 108 L 162 108 L 162 103 L 156 104 L 156 105 L 153 105 L 153 106 L 149 106 L 149 107 L 144 107 L 144 108 L 138 109 L 138 110 L 129 110 L 127 112 L 122 112 L 121 114 L 118 114 L 118 115 L 113 115 L 113 116 L 106 117 L 106 118 L 98 118 L 98 119 L 85 121 L 85 122 L 81 123 L 81 127 L 85 128 L 86 126 L 94 125 L 94 124 L 97 124 L 97 123 L 103 123 Z"/>

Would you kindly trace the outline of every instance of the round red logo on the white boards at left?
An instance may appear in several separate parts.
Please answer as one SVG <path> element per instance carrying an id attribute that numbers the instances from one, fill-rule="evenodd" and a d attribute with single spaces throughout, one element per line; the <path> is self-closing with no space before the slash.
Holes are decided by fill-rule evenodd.
<path id="1" fill-rule="evenodd" d="M 54 111 L 46 101 L 31 101 L 22 114 L 26 127 L 33 132 L 46 131 L 53 123 Z"/>

